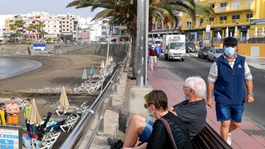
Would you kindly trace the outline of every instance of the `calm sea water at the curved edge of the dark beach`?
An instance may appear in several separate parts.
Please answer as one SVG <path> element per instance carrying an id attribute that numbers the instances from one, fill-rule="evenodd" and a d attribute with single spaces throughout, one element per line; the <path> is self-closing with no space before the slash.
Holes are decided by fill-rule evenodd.
<path id="1" fill-rule="evenodd" d="M 40 62 L 27 58 L 0 57 L 0 79 L 26 73 L 41 66 Z"/>

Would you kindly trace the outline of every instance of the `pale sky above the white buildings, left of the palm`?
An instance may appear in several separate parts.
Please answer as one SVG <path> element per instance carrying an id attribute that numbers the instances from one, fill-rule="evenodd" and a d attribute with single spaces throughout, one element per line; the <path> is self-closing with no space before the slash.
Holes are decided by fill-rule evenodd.
<path id="1" fill-rule="evenodd" d="M 49 14 L 70 14 L 81 17 L 94 17 L 98 12 L 104 10 L 97 8 L 91 12 L 90 7 L 75 9 L 66 8 L 73 0 L 0 0 L 0 14 L 27 14 L 32 11 L 48 11 Z"/>

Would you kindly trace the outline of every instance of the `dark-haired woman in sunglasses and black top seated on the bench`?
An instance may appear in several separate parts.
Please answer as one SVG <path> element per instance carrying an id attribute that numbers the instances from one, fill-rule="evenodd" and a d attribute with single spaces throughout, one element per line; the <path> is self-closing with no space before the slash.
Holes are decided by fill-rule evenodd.
<path id="1" fill-rule="evenodd" d="M 145 95 L 144 107 L 147 109 L 149 116 L 154 117 L 156 121 L 153 123 L 147 120 L 147 126 L 152 127 L 151 136 L 148 141 L 135 149 L 191 149 L 191 139 L 185 124 L 175 114 L 168 111 L 167 95 L 161 90 L 154 90 Z M 147 128 L 147 127 L 145 127 Z M 130 125 L 128 126 L 130 128 Z M 128 130 L 127 129 L 127 130 Z M 144 132 L 144 131 L 143 131 Z M 127 136 L 126 136 L 127 137 Z M 123 147 L 123 149 L 130 149 Z"/>

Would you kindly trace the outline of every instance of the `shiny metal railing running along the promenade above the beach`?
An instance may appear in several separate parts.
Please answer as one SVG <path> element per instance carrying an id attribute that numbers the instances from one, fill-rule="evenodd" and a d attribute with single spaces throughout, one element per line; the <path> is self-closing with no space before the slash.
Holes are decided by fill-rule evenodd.
<path id="1" fill-rule="evenodd" d="M 84 149 L 88 149 L 94 139 L 95 134 L 102 135 L 104 133 L 104 113 L 107 108 L 112 108 L 112 94 L 117 94 L 117 85 L 120 85 L 120 79 L 122 79 L 122 73 L 127 65 L 130 48 L 126 57 L 114 72 L 107 85 L 102 92 L 98 95 L 90 108 L 84 113 L 79 123 L 75 126 L 73 131 L 61 145 L 60 149 L 73 149 L 78 148 L 86 137 L 86 133 L 89 129 L 92 129 L 92 133 L 89 136 L 88 142 Z M 104 105 L 104 103 L 106 104 Z M 94 121 L 95 115 L 98 112 L 98 121 L 94 128 L 91 128 L 91 124 Z"/>

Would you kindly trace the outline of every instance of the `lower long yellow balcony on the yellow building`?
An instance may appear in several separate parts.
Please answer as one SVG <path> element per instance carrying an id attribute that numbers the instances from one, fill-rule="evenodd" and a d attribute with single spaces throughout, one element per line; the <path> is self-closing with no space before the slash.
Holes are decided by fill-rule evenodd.
<path id="1" fill-rule="evenodd" d="M 211 25 L 214 27 L 221 26 L 236 26 L 236 23 L 239 25 L 249 25 L 250 19 L 237 19 L 237 20 L 223 20 L 223 21 L 212 21 L 212 22 L 203 22 L 202 27 L 205 27 L 205 24 Z"/>

